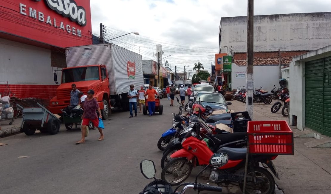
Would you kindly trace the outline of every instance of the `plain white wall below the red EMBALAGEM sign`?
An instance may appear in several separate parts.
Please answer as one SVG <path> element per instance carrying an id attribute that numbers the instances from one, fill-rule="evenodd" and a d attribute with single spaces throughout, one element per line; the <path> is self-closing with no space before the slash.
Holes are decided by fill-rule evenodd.
<path id="1" fill-rule="evenodd" d="M 0 81 L 9 84 L 55 85 L 51 51 L 0 38 Z M 58 73 L 58 81 L 61 73 Z"/>

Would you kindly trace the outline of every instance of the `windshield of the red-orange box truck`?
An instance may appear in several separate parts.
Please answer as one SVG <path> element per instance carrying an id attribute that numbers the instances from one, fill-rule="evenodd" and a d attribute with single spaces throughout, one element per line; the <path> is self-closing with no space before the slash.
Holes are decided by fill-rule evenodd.
<path id="1" fill-rule="evenodd" d="M 63 70 L 62 83 L 99 80 L 99 67 L 82 67 Z"/>

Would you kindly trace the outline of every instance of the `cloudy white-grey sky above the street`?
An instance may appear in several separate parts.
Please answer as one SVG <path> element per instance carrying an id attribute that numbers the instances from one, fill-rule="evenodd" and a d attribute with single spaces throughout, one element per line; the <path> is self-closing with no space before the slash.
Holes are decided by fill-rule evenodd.
<path id="1" fill-rule="evenodd" d="M 255 0 L 254 15 L 329 12 L 330 0 Z M 222 17 L 247 16 L 247 0 L 91 0 L 92 32 L 156 61 L 162 44 L 163 64 L 179 72 L 200 62 L 210 71 L 218 53 L 218 28 Z M 171 56 L 169 56 L 171 55 Z"/>

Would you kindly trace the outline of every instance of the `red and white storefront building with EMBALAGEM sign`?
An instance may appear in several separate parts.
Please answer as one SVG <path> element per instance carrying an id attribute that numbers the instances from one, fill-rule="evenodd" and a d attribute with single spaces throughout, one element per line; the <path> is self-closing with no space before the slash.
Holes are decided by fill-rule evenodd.
<path id="1" fill-rule="evenodd" d="M 51 99 L 53 73 L 66 67 L 64 48 L 92 44 L 90 1 L 0 2 L 0 81 L 16 97 Z"/>

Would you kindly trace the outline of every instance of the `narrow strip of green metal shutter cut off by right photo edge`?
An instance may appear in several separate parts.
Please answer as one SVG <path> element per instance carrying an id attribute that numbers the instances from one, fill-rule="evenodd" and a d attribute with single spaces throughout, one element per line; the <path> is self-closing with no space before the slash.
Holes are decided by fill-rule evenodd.
<path id="1" fill-rule="evenodd" d="M 324 60 L 323 134 L 331 137 L 331 57 Z"/>

